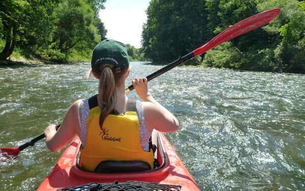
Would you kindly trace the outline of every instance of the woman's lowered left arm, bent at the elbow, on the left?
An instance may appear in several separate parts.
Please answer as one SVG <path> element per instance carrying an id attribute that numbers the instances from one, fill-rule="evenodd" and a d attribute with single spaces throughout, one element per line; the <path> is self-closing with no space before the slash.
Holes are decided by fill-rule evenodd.
<path id="1" fill-rule="evenodd" d="M 56 131 L 56 125 L 49 125 L 44 134 L 46 135 L 46 145 L 52 152 L 63 149 L 75 134 L 80 133 L 78 122 L 78 104 L 81 100 L 75 101 L 67 111 L 62 124 Z"/>

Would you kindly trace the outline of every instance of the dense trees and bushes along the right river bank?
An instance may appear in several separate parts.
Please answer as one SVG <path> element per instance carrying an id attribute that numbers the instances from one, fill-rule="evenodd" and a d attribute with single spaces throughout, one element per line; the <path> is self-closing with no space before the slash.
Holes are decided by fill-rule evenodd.
<path id="1" fill-rule="evenodd" d="M 209 67 L 305 73 L 305 1 L 151 0 L 143 25 L 143 52 L 157 62 L 176 60 L 230 25 L 273 8 L 282 10 L 275 20 L 219 45 L 196 62 Z"/>

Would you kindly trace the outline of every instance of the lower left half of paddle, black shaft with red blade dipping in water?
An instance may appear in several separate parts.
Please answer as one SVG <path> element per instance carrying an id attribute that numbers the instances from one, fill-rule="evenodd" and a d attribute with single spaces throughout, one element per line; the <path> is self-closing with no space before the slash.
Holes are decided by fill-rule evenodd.
<path id="1" fill-rule="evenodd" d="M 59 126 L 60 126 L 60 124 L 56 126 L 56 130 L 59 128 Z M 36 142 L 44 139 L 45 137 L 46 136 L 44 135 L 44 133 L 42 133 L 38 137 L 32 139 L 31 141 L 28 141 L 27 143 L 24 143 L 23 145 L 21 145 L 19 147 L 16 147 L 16 148 L 0 148 L 0 153 L 2 153 L 4 156 L 8 156 L 8 155 L 17 156 L 20 151 L 22 151 L 23 149 L 25 149 L 29 146 L 34 146 Z"/>

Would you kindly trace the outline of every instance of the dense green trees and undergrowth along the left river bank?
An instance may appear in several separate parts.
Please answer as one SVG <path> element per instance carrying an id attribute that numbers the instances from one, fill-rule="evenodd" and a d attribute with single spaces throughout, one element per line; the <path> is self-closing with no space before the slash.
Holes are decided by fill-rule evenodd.
<path id="1" fill-rule="evenodd" d="M 53 61 L 89 59 L 105 39 L 98 17 L 106 0 L 0 1 L 0 61 L 15 48 L 25 56 Z"/>

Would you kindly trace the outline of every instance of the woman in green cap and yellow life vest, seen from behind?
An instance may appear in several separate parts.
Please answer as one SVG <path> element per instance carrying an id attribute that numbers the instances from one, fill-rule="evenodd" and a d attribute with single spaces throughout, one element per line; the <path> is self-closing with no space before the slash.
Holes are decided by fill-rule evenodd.
<path id="1" fill-rule="evenodd" d="M 54 124 L 45 129 L 47 147 L 58 151 L 78 135 L 83 170 L 103 171 L 109 161 L 142 161 L 153 169 L 152 132 L 177 130 L 177 119 L 148 93 L 145 77 L 132 80 L 143 102 L 126 97 L 130 68 L 123 43 L 100 42 L 91 65 L 90 73 L 99 79 L 98 94 L 75 101 L 57 131 Z"/>

